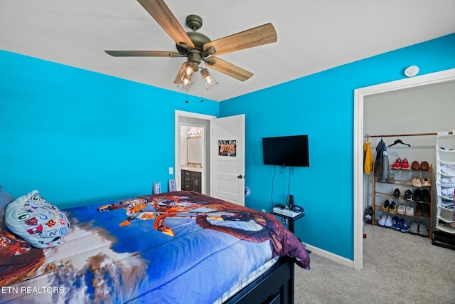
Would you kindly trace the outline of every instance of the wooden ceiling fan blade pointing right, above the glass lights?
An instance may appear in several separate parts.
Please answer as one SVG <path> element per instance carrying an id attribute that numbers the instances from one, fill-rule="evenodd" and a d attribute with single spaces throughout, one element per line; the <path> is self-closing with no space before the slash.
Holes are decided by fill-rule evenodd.
<path id="1" fill-rule="evenodd" d="M 205 43 L 203 49 L 207 50 L 210 46 L 213 46 L 216 54 L 221 55 L 273 42 L 277 42 L 277 31 L 275 31 L 272 23 L 267 23 Z"/>

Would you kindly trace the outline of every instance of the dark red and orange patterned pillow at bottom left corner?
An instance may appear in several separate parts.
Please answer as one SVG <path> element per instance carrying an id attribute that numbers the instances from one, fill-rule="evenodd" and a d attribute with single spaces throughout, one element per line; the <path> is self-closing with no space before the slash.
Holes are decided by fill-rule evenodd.
<path id="1" fill-rule="evenodd" d="M 0 286 L 7 286 L 33 277 L 45 262 L 42 248 L 0 229 Z"/>

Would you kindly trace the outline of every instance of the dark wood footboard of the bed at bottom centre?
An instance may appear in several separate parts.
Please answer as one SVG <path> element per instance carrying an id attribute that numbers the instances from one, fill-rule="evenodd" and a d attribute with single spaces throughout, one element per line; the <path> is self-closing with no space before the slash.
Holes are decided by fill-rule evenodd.
<path id="1" fill-rule="evenodd" d="M 257 280 L 247 285 L 225 304 L 294 304 L 294 261 L 281 257 Z"/>

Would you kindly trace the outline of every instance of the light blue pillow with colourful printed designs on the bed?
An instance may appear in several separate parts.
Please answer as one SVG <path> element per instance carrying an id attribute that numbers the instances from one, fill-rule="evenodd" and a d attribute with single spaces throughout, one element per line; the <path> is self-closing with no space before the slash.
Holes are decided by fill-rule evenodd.
<path id="1" fill-rule="evenodd" d="M 56 206 L 45 201 L 37 190 L 11 201 L 6 207 L 9 230 L 38 248 L 65 243 L 70 221 Z"/>

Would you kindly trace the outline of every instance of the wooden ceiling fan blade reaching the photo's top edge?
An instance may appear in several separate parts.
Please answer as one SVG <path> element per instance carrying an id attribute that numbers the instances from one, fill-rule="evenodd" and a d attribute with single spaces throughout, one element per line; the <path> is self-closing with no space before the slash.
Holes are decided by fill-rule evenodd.
<path id="1" fill-rule="evenodd" d="M 137 0 L 139 4 L 149 12 L 150 16 L 168 33 L 176 43 L 183 48 L 194 48 L 194 43 L 191 41 L 183 27 L 178 23 L 176 16 L 173 16 L 172 11 L 164 3 L 163 0 Z"/>

